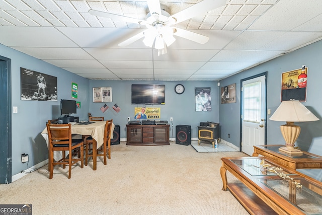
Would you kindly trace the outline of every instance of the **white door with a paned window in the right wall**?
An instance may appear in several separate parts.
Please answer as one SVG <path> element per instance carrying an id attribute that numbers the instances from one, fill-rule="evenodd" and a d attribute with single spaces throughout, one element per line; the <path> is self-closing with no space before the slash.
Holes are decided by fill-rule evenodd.
<path id="1" fill-rule="evenodd" d="M 243 81 L 241 151 L 252 156 L 254 145 L 265 144 L 265 76 Z"/>

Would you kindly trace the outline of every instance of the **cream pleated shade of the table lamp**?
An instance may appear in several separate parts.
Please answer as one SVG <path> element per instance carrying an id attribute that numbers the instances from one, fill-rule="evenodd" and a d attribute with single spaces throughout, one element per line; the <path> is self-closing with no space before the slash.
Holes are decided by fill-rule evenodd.
<path id="1" fill-rule="evenodd" d="M 270 117 L 273 121 L 284 122 L 308 122 L 317 121 L 319 118 L 314 116 L 301 102 L 283 101 Z"/>

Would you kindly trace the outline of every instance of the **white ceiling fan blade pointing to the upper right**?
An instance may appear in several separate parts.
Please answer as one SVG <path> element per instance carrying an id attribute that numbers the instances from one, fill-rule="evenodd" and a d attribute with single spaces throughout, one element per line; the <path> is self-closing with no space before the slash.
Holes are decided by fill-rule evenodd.
<path id="1" fill-rule="evenodd" d="M 203 0 L 177 14 L 169 17 L 169 22 L 172 24 L 180 23 L 190 18 L 196 17 L 208 11 L 224 6 L 227 0 Z"/>

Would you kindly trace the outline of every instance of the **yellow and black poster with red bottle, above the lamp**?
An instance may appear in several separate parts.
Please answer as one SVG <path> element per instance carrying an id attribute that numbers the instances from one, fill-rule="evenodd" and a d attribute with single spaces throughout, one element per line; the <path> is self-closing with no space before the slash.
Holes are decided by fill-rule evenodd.
<path id="1" fill-rule="evenodd" d="M 306 101 L 307 67 L 282 73 L 281 102 L 290 100 Z"/>

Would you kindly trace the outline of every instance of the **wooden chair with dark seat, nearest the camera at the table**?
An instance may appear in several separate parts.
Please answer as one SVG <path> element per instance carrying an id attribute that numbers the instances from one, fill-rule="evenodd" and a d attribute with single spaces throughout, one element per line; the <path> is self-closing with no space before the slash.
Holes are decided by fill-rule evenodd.
<path id="1" fill-rule="evenodd" d="M 81 168 L 84 167 L 84 140 L 71 139 L 71 125 L 70 124 L 48 124 L 48 154 L 49 154 L 49 179 L 53 177 L 53 170 L 55 165 L 62 165 L 65 169 L 66 165 L 69 166 L 68 178 L 71 177 L 71 166 L 81 161 Z M 72 151 L 79 148 L 79 157 L 73 158 Z M 54 160 L 54 152 L 62 151 L 62 159 L 59 161 Z M 66 157 L 68 152 L 68 157 Z"/>

